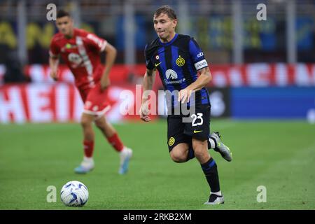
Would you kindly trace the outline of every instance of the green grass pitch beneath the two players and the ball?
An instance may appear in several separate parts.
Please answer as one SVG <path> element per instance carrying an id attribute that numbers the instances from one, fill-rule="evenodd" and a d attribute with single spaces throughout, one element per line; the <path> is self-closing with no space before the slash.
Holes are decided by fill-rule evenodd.
<path id="1" fill-rule="evenodd" d="M 315 126 L 304 121 L 214 120 L 233 161 L 218 164 L 225 204 L 206 206 L 209 186 L 196 159 L 169 158 L 165 121 L 114 125 L 134 150 L 130 171 L 118 175 L 118 153 L 95 129 L 95 169 L 73 173 L 83 156 L 80 125 L 0 125 L 0 209 L 315 209 Z M 67 181 L 87 186 L 83 208 L 65 207 Z M 48 186 L 57 202 L 48 203 Z M 267 202 L 257 202 L 258 186 Z"/>

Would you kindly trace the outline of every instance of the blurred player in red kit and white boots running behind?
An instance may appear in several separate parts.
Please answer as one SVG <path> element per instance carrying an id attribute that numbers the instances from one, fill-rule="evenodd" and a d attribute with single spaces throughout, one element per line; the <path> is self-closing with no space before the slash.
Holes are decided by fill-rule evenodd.
<path id="1" fill-rule="evenodd" d="M 56 25 L 59 33 L 52 37 L 50 43 L 50 76 L 57 80 L 59 55 L 69 66 L 75 78 L 76 87 L 84 102 L 80 120 L 83 128 L 84 157 L 81 164 L 74 169 L 78 174 L 86 174 L 94 168 L 92 158 L 94 151 L 94 132 L 92 123 L 101 130 L 109 144 L 120 154 L 119 174 L 125 174 L 132 157 L 132 150 L 120 141 L 116 130 L 106 120 L 104 114 L 109 111 L 106 102 L 110 85 L 109 73 L 116 59 L 116 48 L 103 38 L 83 29 L 73 27 L 73 19 L 68 12 L 59 10 Z M 100 60 L 100 53 L 106 53 L 106 68 Z"/>

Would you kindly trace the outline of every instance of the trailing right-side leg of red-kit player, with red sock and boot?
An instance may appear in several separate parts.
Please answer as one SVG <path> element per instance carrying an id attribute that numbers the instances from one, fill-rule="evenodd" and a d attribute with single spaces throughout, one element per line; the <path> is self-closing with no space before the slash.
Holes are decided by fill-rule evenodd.
<path id="1" fill-rule="evenodd" d="M 101 130 L 104 137 L 109 141 L 109 144 L 120 153 L 120 167 L 118 172 L 119 174 L 125 174 L 128 171 L 129 161 L 132 157 L 132 149 L 123 145 L 117 131 L 113 125 L 106 120 L 105 116 L 101 116 L 95 120 L 95 125 Z"/>

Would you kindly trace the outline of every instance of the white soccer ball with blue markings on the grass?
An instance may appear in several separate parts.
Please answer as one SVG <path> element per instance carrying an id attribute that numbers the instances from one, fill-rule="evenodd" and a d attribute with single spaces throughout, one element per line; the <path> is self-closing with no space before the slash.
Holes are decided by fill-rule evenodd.
<path id="1" fill-rule="evenodd" d="M 89 198 L 89 192 L 80 181 L 69 181 L 62 187 L 60 197 L 66 206 L 83 207 Z"/>

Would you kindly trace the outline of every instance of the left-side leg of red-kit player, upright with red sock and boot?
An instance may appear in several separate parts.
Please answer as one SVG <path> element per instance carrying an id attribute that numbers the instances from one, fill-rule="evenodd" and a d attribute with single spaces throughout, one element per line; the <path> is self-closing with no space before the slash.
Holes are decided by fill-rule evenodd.
<path id="1" fill-rule="evenodd" d="M 83 129 L 83 150 L 84 157 L 81 164 L 74 169 L 77 174 L 86 174 L 94 168 L 93 151 L 94 151 L 94 132 L 92 129 L 92 122 L 94 116 L 83 113 L 81 116 L 81 127 Z"/>

